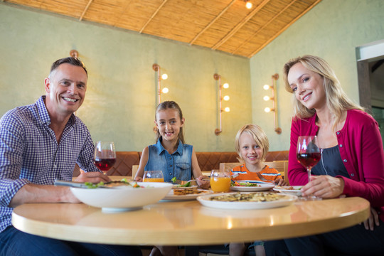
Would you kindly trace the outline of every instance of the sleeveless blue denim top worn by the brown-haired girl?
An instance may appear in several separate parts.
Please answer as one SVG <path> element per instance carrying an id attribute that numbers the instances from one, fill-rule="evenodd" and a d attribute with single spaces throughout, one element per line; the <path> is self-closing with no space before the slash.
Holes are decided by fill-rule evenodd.
<path id="1" fill-rule="evenodd" d="M 177 150 L 174 154 L 169 154 L 159 139 L 156 144 L 148 148 L 149 156 L 144 171 L 163 171 L 165 182 L 171 182 L 171 178 L 174 177 L 181 181 L 191 179 L 193 146 L 178 141 Z"/>

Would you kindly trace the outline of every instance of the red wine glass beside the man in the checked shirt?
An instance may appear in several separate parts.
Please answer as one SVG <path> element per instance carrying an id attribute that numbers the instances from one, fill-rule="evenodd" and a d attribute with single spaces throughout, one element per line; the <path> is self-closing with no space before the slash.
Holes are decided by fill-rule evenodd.
<path id="1" fill-rule="evenodd" d="M 96 142 L 93 163 L 95 166 L 107 174 L 116 162 L 116 151 L 113 142 Z"/>

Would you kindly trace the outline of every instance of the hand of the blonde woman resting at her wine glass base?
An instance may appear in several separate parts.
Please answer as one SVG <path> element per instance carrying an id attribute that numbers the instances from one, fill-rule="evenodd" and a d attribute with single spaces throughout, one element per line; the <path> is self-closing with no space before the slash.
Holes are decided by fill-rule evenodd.
<path id="1" fill-rule="evenodd" d="M 329 175 L 311 176 L 311 182 L 302 188 L 302 196 L 336 198 L 343 193 L 344 181 Z"/>

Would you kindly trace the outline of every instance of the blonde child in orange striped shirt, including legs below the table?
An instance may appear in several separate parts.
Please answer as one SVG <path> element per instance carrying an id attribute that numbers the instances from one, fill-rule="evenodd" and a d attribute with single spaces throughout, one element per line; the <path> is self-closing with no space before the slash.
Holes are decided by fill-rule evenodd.
<path id="1" fill-rule="evenodd" d="M 246 124 L 236 134 L 235 148 L 239 154 L 240 162 L 244 164 L 233 168 L 231 175 L 239 174 L 233 178 L 235 181 L 273 181 L 279 186 L 285 186 L 287 183 L 281 178 L 281 174 L 276 169 L 270 168 L 264 164 L 265 156 L 270 149 L 270 142 L 267 134 L 256 124 Z M 264 256 L 265 250 L 262 241 L 255 241 L 252 245 L 255 247 L 257 256 Z M 245 252 L 244 243 L 230 243 L 230 255 L 243 255 Z"/>

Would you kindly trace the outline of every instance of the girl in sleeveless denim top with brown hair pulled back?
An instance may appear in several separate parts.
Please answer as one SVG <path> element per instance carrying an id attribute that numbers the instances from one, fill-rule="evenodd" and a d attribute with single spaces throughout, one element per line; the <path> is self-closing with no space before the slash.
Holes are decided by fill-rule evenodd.
<path id="1" fill-rule="evenodd" d="M 178 104 L 174 101 L 159 104 L 154 122 L 156 144 L 144 148 L 135 180 L 142 181 L 144 171 L 161 170 L 165 182 L 171 182 L 174 177 L 188 181 L 193 175 L 201 188 L 208 188 L 209 181 L 203 181 L 193 146 L 184 144 L 185 119 Z"/>

